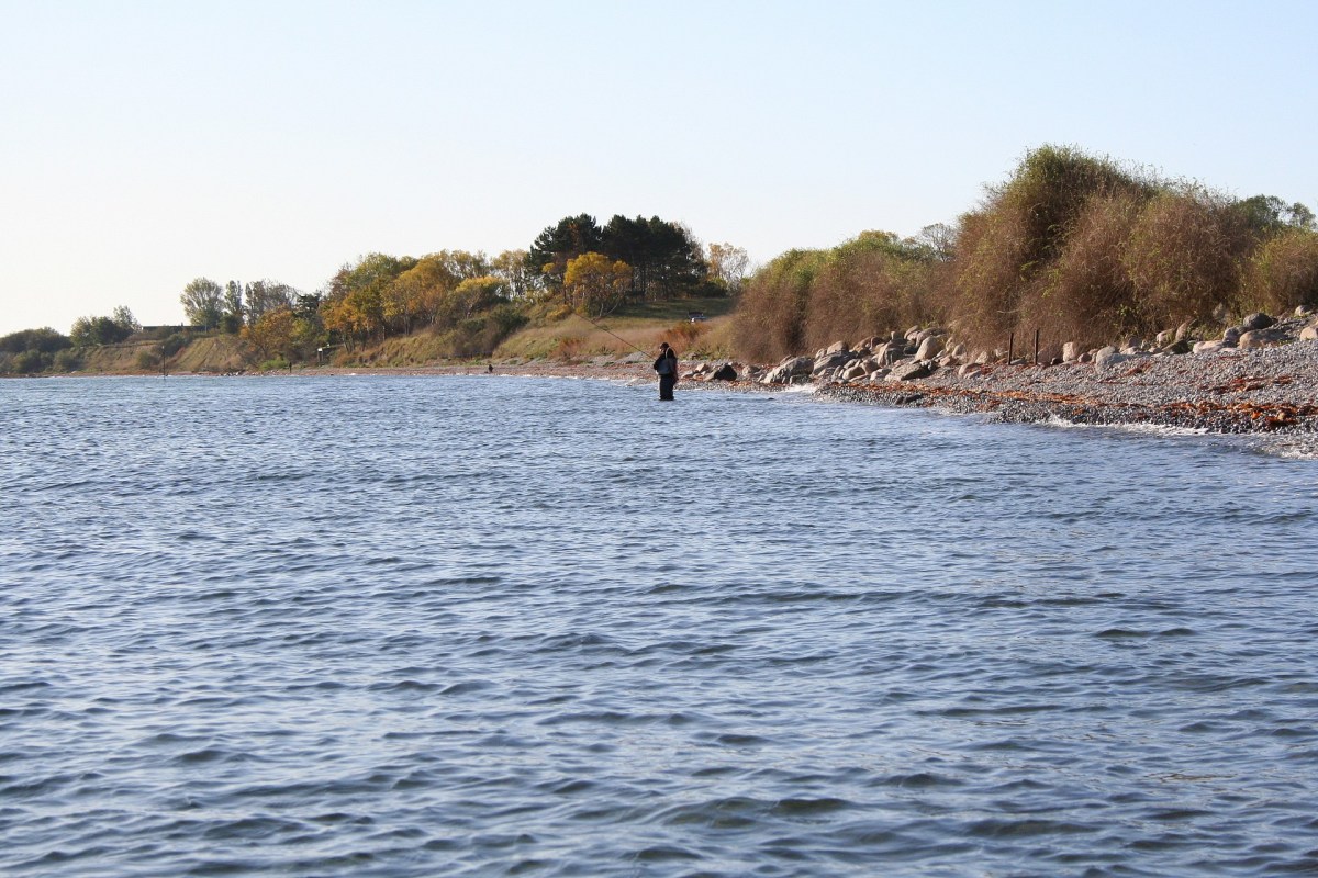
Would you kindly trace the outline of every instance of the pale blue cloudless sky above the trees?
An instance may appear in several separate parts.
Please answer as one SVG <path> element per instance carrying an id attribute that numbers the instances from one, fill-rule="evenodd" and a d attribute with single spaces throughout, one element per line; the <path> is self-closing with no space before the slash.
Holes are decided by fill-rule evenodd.
<path id="1" fill-rule="evenodd" d="M 0 334 L 564 216 L 763 263 L 1043 145 L 1318 209 L 1311 0 L 0 0 Z"/>

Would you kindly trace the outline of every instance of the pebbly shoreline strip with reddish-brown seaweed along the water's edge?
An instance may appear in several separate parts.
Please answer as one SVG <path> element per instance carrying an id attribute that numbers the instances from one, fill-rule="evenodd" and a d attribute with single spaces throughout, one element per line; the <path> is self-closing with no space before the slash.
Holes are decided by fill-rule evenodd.
<path id="1" fill-rule="evenodd" d="M 416 375 L 589 378 L 651 382 L 648 362 L 634 357 L 596 357 L 560 363 L 494 362 L 494 373 L 477 365 L 316 366 L 248 376 Z M 713 380 L 702 376 L 717 362 L 684 361 L 679 390 L 724 388 L 735 392 L 782 392 L 783 384 L 757 380 Z M 706 369 L 709 367 L 709 369 Z M 699 370 L 699 371 L 697 371 Z M 743 374 L 738 370 L 738 374 Z M 75 373 L 66 376 L 107 376 Z M 136 376 L 152 376 L 142 373 Z M 207 376 L 174 373 L 170 376 Z M 216 378 L 221 375 L 214 375 Z M 966 375 L 938 369 L 907 380 L 811 382 L 821 398 L 886 408 L 934 408 L 982 415 L 1016 424 L 1064 423 L 1102 426 L 1161 426 L 1220 436 L 1268 438 L 1286 453 L 1318 457 L 1318 341 L 1275 348 L 1222 349 L 1124 359 L 1115 365 L 995 365 Z"/>

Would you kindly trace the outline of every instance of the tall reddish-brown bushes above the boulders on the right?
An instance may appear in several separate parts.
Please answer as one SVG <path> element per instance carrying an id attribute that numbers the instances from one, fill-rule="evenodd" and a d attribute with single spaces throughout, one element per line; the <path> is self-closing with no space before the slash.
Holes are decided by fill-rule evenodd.
<path id="1" fill-rule="evenodd" d="M 1049 348 L 1097 346 L 1318 305 L 1318 233 L 1302 205 L 1234 200 L 1070 147 L 1028 154 L 953 240 L 867 232 L 783 254 L 742 294 L 737 353 L 772 361 L 928 324 L 986 350 L 1035 330 Z"/>

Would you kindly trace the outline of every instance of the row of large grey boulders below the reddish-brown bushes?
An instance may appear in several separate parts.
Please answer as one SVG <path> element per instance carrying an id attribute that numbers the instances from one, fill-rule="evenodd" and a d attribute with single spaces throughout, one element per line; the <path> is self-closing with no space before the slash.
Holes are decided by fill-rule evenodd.
<path id="1" fill-rule="evenodd" d="M 1174 330 L 1157 334 L 1152 341 L 1128 338 L 1120 346 L 1082 350 L 1074 342 L 1041 349 L 1040 365 L 1094 363 L 1107 367 L 1137 357 L 1188 354 L 1223 348 L 1268 348 L 1292 341 L 1318 340 L 1314 311 L 1301 307 L 1294 315 L 1277 320 L 1265 313 L 1252 313 L 1240 324 L 1227 328 L 1220 338 L 1202 337 L 1195 325 L 1186 323 Z M 975 376 L 992 363 L 1028 365 L 1031 358 L 1012 358 L 1008 350 L 969 351 L 952 333 L 938 328 L 912 326 L 904 333 L 871 337 L 855 346 L 838 341 L 813 357 L 787 357 L 776 366 L 763 369 L 743 363 L 701 363 L 689 378 L 704 380 L 750 380 L 762 384 L 878 384 L 927 378 L 940 369 L 957 369 L 958 376 Z"/>

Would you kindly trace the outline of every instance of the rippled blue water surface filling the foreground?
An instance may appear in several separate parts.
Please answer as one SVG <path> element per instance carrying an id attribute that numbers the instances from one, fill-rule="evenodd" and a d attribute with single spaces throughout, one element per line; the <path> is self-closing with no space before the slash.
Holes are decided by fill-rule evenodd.
<path id="1" fill-rule="evenodd" d="M 654 396 L 0 383 L 0 874 L 1318 871 L 1318 465 Z"/>

